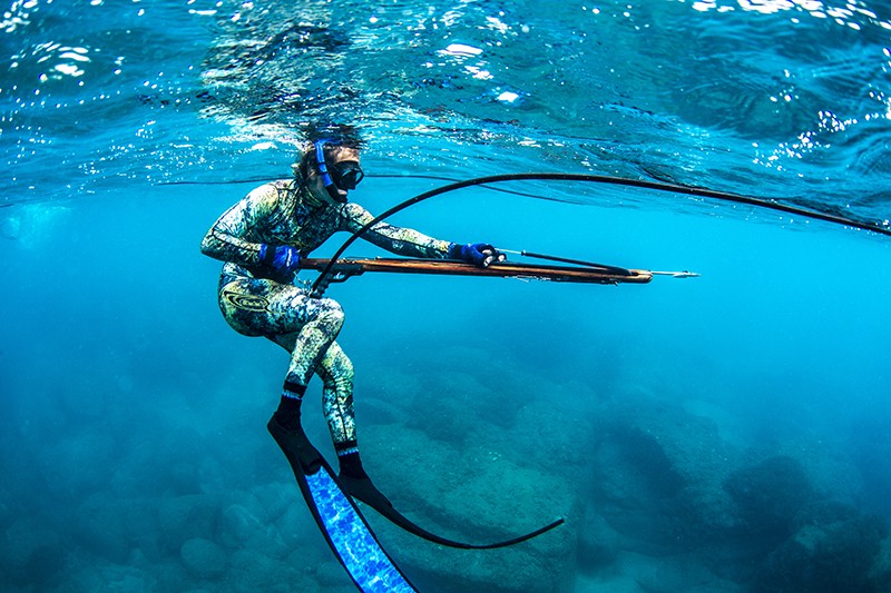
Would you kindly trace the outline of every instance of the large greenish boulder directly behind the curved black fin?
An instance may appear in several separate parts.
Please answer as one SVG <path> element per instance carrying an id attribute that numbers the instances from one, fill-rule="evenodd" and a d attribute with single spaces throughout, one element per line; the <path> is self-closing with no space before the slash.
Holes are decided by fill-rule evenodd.
<path id="1" fill-rule="evenodd" d="M 566 517 L 566 524 L 516 546 L 464 551 L 419 542 L 366 512 L 384 547 L 422 590 L 429 581 L 442 592 L 571 591 L 580 504 L 560 477 L 498 451 L 453 446 L 398 425 L 366 427 L 363 455 L 393 505 L 444 536 L 493 542 Z"/>

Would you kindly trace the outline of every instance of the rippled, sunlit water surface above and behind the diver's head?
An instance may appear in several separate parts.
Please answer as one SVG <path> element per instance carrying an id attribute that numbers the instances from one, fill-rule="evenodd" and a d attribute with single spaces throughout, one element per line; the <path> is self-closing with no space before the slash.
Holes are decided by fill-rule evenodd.
<path id="1" fill-rule="evenodd" d="M 0 30 L 6 204 L 276 176 L 334 120 L 379 172 L 594 171 L 891 216 L 879 2 L 31 0 Z"/>

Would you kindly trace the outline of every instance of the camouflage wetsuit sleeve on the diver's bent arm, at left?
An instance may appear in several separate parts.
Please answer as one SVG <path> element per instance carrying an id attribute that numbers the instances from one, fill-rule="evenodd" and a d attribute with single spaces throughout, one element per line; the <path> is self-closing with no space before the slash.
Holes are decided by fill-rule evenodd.
<path id="1" fill-rule="evenodd" d="M 268 218 L 278 202 L 272 184 L 261 186 L 223 213 L 202 241 L 202 253 L 223 261 L 243 266 L 260 264 L 261 239 L 256 229 Z"/>

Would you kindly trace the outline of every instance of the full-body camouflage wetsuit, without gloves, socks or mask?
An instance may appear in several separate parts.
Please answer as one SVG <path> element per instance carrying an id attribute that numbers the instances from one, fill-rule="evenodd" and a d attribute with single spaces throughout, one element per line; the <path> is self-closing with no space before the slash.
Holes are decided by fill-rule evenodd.
<path id="1" fill-rule="evenodd" d="M 219 277 L 219 308 L 246 336 L 265 336 L 291 352 L 285 383 L 305 386 L 314 372 L 323 382 L 323 409 L 335 448 L 355 447 L 353 367 L 334 339 L 343 325 L 341 306 L 268 277 L 261 244 L 291 245 L 302 257 L 339 230 L 353 233 L 373 219 L 358 204 L 326 205 L 296 180 L 251 191 L 214 224 L 202 251 L 226 261 Z M 415 230 L 378 224 L 362 237 L 409 257 L 444 258 L 449 243 Z"/>

